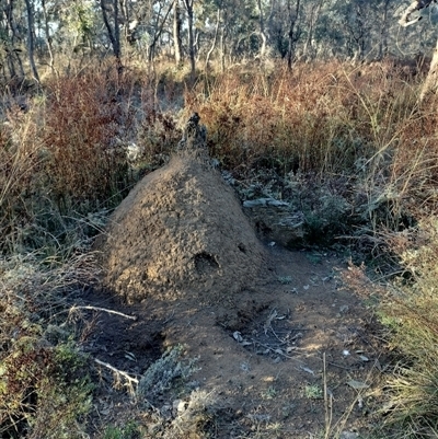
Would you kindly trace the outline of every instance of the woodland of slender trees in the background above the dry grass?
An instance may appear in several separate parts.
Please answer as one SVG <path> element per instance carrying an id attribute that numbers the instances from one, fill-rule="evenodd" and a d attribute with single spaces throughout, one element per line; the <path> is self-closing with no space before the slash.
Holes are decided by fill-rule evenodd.
<path id="1" fill-rule="evenodd" d="M 108 56 L 120 63 L 186 60 L 193 74 L 212 59 L 223 71 L 243 60 L 284 59 L 291 67 L 333 57 L 430 56 L 435 3 L 407 28 L 397 23 L 406 7 L 399 0 L 2 0 L 1 74 L 38 81 L 47 67 Z"/>

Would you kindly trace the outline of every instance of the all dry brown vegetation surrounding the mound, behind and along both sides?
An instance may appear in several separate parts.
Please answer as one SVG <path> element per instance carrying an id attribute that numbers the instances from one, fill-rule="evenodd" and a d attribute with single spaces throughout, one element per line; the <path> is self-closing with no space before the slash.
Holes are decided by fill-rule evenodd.
<path id="1" fill-rule="evenodd" d="M 59 274 L 59 266 L 71 257 L 80 261 L 107 210 L 139 177 L 166 162 L 180 138 L 178 123 L 192 111 L 207 126 L 211 155 L 242 187 L 275 181 L 276 195 L 287 197 L 286 183 L 293 183 L 306 194 L 302 206 L 319 215 L 334 209 L 321 206 L 321 194 L 345 203 L 343 216 L 333 220 L 345 218 L 342 230 L 350 241 L 343 242 L 362 258 L 384 254 L 385 264 L 372 267 L 389 269 L 384 275 L 402 273 L 377 290 L 372 281 L 365 288 L 367 294 L 377 291 L 392 347 L 405 359 L 389 383 L 391 420 L 404 425 L 392 437 L 436 437 L 438 116 L 434 100 L 417 105 L 420 81 L 393 61 L 303 63 L 292 71 L 234 68 L 199 77 L 193 88 L 170 71 L 149 79 L 136 69 L 122 77 L 101 69 L 47 79 L 25 96 L 25 108 L 16 103 L 19 91 L 4 86 L 2 437 L 26 431 L 49 437 L 44 428 L 54 420 L 46 423 L 50 407 L 43 403 L 74 381 L 62 374 L 62 368 L 71 369 L 74 348 L 67 349 L 58 336 L 47 340 L 48 327 L 61 323 L 42 312 L 47 303 L 54 312 L 68 308 L 59 298 L 76 275 Z M 128 154 L 132 146 L 135 160 Z M 309 213 L 307 220 L 312 227 L 315 219 Z M 313 228 L 318 232 L 319 223 Z M 51 377 L 59 379 L 56 385 Z M 70 431 L 84 414 L 76 404 L 80 400 L 84 407 L 89 398 L 89 383 L 82 384 L 64 411 Z"/>

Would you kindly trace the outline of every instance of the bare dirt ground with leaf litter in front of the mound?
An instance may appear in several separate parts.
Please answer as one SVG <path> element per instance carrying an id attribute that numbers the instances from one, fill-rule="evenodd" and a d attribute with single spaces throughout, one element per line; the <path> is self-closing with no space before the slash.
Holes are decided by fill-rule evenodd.
<path id="1" fill-rule="evenodd" d="M 185 356 L 198 358 L 198 370 L 181 394 L 170 392 L 154 403 L 165 411 L 175 400 L 188 398 L 189 386 L 207 391 L 218 438 L 256 431 L 260 437 L 322 435 L 327 425 L 325 355 L 333 432 L 357 437 L 345 432 L 367 431 L 372 382 L 383 362 L 370 335 L 369 313 L 339 288 L 337 269 L 344 264 L 335 255 L 276 246 L 267 252 L 270 277 L 254 279 L 231 307 L 157 298 L 127 305 L 104 292 L 90 294 L 89 303 L 138 320 L 101 313 L 87 349 L 138 377 L 165 346 L 184 344 Z M 111 385 L 96 406 L 105 424 L 135 417 L 126 390 Z"/>

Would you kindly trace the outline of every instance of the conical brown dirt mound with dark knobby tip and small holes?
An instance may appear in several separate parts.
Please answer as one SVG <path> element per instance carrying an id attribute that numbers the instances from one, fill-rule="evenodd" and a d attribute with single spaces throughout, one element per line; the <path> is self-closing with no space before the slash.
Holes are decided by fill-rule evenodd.
<path id="1" fill-rule="evenodd" d="M 120 204 L 101 241 L 104 284 L 128 301 L 150 294 L 222 300 L 263 272 L 263 246 L 235 194 L 209 165 L 197 122 L 191 118 L 169 164 Z"/>

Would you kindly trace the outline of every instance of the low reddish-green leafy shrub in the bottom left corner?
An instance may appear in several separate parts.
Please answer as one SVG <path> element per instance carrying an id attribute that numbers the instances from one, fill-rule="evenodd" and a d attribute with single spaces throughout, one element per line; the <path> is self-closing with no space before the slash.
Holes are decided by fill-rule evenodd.
<path id="1" fill-rule="evenodd" d="M 85 359 L 71 345 L 44 347 L 21 337 L 1 362 L 0 431 L 32 431 L 34 438 L 76 438 L 78 419 L 91 408 Z"/>

